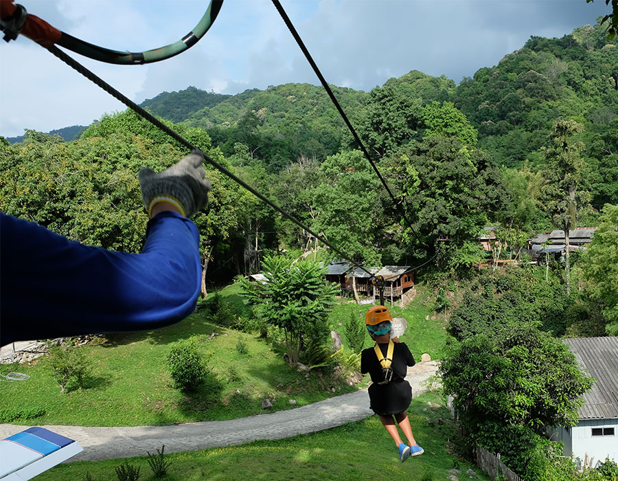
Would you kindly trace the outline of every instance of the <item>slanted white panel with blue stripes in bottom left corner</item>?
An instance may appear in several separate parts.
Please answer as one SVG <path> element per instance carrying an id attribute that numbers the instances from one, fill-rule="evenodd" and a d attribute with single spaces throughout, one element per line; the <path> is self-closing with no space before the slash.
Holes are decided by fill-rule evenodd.
<path id="1" fill-rule="evenodd" d="M 76 440 L 30 427 L 0 441 L 0 480 L 30 480 L 83 450 Z"/>

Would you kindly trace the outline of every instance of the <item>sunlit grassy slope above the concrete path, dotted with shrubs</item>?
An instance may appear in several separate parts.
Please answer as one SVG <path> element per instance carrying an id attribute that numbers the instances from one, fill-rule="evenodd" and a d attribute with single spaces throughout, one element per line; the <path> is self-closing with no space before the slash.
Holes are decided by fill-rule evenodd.
<path id="1" fill-rule="evenodd" d="M 237 285 L 222 289 L 220 295 L 237 312 L 247 309 Z M 341 333 L 339 323 L 350 313 L 364 322 L 368 307 L 345 301 L 337 304 L 331 315 L 333 328 Z M 424 352 L 434 359 L 439 357 L 446 340 L 441 322 L 426 320 L 428 311 L 419 305 L 405 311 L 395 307 L 392 311 L 393 315 L 407 317 L 409 329 L 403 340 L 416 359 Z M 211 333 L 218 335 L 207 340 Z M 170 387 L 165 355 L 170 343 L 190 335 L 198 335 L 201 351 L 211 355 L 208 365 L 213 375 L 198 392 L 187 395 Z M 247 354 L 238 352 L 239 341 L 246 344 Z M 370 345 L 367 337 L 366 347 Z M 271 344 L 255 335 L 220 328 L 199 314 L 156 331 L 110 335 L 105 344 L 81 349 L 87 350 L 93 361 L 93 377 L 84 389 L 69 383 L 67 394 L 60 394 L 44 359 L 28 365 L 0 366 L 2 374 L 16 371 L 30 376 L 26 381 L 3 383 L 0 411 L 18 406 L 45 409 L 38 418 L 12 421 L 26 425 L 166 425 L 259 414 L 266 396 L 275 410 L 284 410 L 291 407 L 290 399 L 306 405 L 366 385 L 350 387 L 317 374 L 306 381 L 302 374 L 288 368 L 282 353 Z"/>

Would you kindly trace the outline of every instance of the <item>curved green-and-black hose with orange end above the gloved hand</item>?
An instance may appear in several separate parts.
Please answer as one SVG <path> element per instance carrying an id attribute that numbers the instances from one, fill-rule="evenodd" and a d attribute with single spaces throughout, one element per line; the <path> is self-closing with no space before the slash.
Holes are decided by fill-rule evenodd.
<path id="1" fill-rule="evenodd" d="M 49 25 L 36 15 L 28 14 L 22 5 L 14 5 L 14 0 L 1 0 L 3 17 L 2 30 L 7 32 L 5 41 L 14 40 L 18 34 L 23 34 L 43 47 L 60 45 L 80 55 L 99 60 L 100 62 L 117 65 L 142 65 L 159 62 L 178 55 L 189 49 L 208 32 L 214 23 L 223 0 L 210 0 L 206 12 L 191 32 L 179 41 L 146 52 L 120 52 L 84 42 Z"/>

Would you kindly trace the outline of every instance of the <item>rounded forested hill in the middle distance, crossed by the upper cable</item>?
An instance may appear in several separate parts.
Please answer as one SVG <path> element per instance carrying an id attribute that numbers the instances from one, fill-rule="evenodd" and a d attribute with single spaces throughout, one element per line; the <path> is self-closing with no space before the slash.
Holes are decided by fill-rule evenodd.
<path id="1" fill-rule="evenodd" d="M 343 109 L 360 109 L 365 92 L 332 86 Z M 322 87 L 286 84 L 265 91 L 247 90 L 197 111 L 187 125 L 205 128 L 225 155 L 235 144 L 249 155 L 266 160 L 268 170 L 279 171 L 301 156 L 325 159 L 339 150 L 345 124 Z"/>

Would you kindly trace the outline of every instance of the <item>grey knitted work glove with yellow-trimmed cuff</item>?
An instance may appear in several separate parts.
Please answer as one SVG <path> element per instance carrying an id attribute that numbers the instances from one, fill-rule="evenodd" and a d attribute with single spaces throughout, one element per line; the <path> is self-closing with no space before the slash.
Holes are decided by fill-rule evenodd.
<path id="1" fill-rule="evenodd" d="M 193 217 L 208 202 L 210 181 L 204 176 L 202 167 L 204 161 L 200 150 L 193 150 L 190 155 L 170 168 L 155 174 L 150 167 L 139 170 L 139 186 L 141 198 L 148 210 L 159 202 L 169 202 L 176 205 L 185 217 Z"/>

